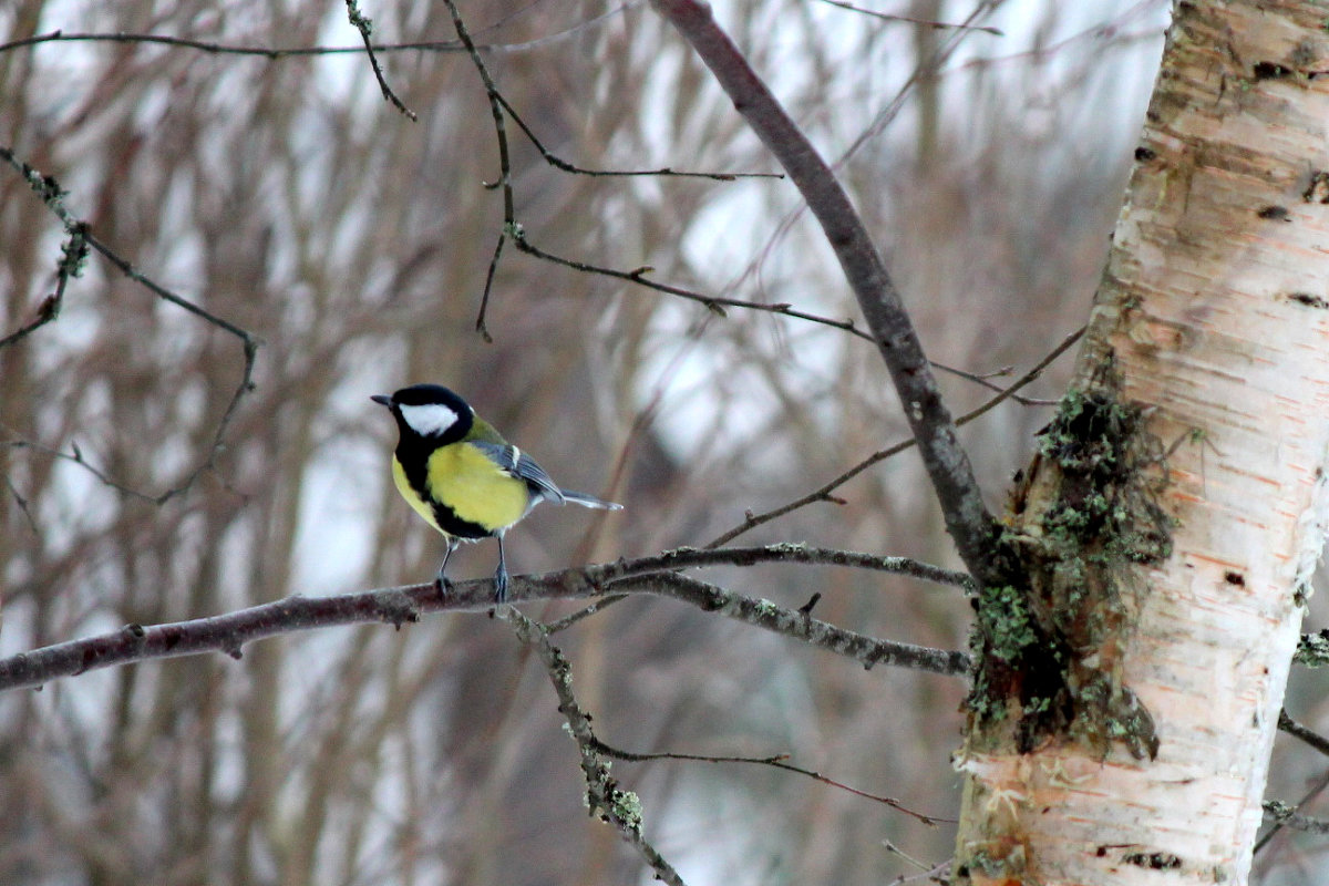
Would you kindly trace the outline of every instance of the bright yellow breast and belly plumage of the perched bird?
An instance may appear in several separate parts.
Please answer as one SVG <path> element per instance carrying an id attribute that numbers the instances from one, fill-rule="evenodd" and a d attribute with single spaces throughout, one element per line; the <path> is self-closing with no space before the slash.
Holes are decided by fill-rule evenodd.
<path id="1" fill-rule="evenodd" d="M 392 480 L 411 507 L 444 534 L 448 530 L 439 525 L 431 502 L 447 507 L 457 519 L 490 533 L 516 523 L 530 505 L 524 480 L 513 477 L 484 452 L 465 442 L 440 446 L 429 453 L 427 489 L 412 487 L 396 458 L 392 460 Z"/>

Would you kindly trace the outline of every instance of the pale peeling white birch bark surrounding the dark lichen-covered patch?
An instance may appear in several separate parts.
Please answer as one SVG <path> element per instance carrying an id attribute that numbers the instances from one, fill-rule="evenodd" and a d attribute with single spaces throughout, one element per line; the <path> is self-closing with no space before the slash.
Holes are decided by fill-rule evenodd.
<path id="1" fill-rule="evenodd" d="M 1325 20 L 1322 3 L 1176 4 L 1079 379 L 1110 357 L 1123 401 L 1176 444 L 1159 499 L 1172 554 L 1132 567 L 1115 639 L 1158 756 L 971 736 L 956 882 L 1248 878 L 1324 542 Z"/>

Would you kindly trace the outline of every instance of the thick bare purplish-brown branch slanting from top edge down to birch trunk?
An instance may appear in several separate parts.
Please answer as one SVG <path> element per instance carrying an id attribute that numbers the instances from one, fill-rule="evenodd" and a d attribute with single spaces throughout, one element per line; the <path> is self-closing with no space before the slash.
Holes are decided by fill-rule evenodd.
<path id="1" fill-rule="evenodd" d="M 941 400 L 913 323 L 849 197 L 816 147 L 715 23 L 708 4 L 653 0 L 653 5 L 711 69 L 821 223 L 905 405 L 924 466 L 941 502 L 946 530 L 961 559 L 979 583 L 1001 580 L 997 522 L 983 503 L 969 457 L 956 438 L 956 424 Z"/>

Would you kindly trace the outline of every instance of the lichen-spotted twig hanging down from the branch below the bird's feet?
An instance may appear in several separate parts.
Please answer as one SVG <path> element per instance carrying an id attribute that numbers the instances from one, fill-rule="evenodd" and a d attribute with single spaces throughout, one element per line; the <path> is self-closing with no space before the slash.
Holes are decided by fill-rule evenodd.
<path id="1" fill-rule="evenodd" d="M 536 650 L 549 681 L 558 696 L 558 712 L 567 721 L 567 732 L 577 743 L 582 774 L 586 777 L 586 806 L 593 816 L 609 824 L 618 836 L 641 854 L 655 871 L 655 878 L 671 886 L 684 886 L 674 866 L 642 836 L 642 801 L 631 790 L 618 786 L 609 774 L 609 764 L 599 754 L 601 743 L 590 725 L 590 716 L 582 711 L 573 693 L 571 665 L 562 651 L 549 642 L 549 632 L 540 622 L 532 620 L 512 606 L 498 607 L 498 618 L 512 624 L 517 639 Z"/>

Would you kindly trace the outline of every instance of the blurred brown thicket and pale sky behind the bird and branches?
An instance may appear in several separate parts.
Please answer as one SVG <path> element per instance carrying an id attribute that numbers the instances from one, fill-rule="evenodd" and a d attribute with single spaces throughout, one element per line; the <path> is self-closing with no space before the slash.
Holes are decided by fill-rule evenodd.
<path id="1" fill-rule="evenodd" d="M 969 8 L 904 4 L 926 20 Z M 1166 4 L 987 3 L 981 31 L 816 0 L 718 9 L 885 246 L 929 355 L 1023 368 L 1083 323 L 1154 76 Z M 93 258 L 57 321 L 0 348 L 0 654 L 291 594 L 421 580 L 441 546 L 396 499 L 368 395 L 437 381 L 567 486 L 627 505 L 545 509 L 514 573 L 679 545 L 820 486 L 906 428 L 873 348 L 841 331 L 694 303 L 509 248 L 485 94 L 443 4 L 364 7 L 380 94 L 338 5 L 17 0 L 0 43 L 0 145 L 69 191 L 141 272 L 262 340 L 242 343 Z M 504 96 L 587 169 L 775 171 L 643 3 L 461 12 Z M 76 33 L 189 39 L 209 48 Z M 221 48 L 348 46 L 279 54 Z M 597 178 L 509 125 L 517 218 L 541 248 L 710 295 L 855 313 L 787 182 Z M 62 231 L 0 169 L 0 319 L 29 321 Z M 1069 361 L 1031 396 L 1055 397 Z M 1001 384 L 1002 379 L 993 379 Z M 990 392 L 948 379 L 954 410 Z M 990 501 L 1047 409 L 965 430 Z M 78 464 L 78 462 L 82 464 Z M 203 470 L 199 470 L 203 468 Z M 161 497 L 169 495 L 165 501 Z M 953 565 L 905 454 L 747 541 Z M 453 574 L 486 574 L 492 546 Z M 880 574 L 731 570 L 739 590 L 912 643 L 962 647 L 969 606 Z M 571 604 L 536 607 L 553 618 Z M 630 751 L 791 754 L 948 817 L 960 680 L 861 668 L 655 599 L 561 635 L 581 701 Z M 0 881 L 622 883 L 647 879 L 587 820 L 538 663 L 504 624 L 432 618 L 291 636 L 241 662 L 179 659 L 0 696 Z M 950 854 L 949 826 L 754 765 L 617 764 L 694 883 L 877 883 Z M 1281 782 L 1280 782 L 1281 777 Z M 1296 768 L 1275 782 L 1300 784 Z"/>

